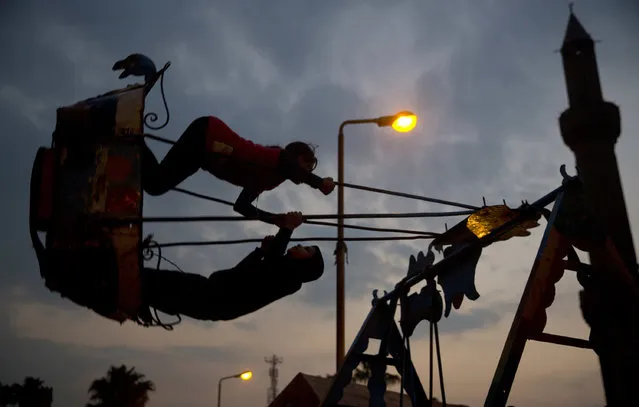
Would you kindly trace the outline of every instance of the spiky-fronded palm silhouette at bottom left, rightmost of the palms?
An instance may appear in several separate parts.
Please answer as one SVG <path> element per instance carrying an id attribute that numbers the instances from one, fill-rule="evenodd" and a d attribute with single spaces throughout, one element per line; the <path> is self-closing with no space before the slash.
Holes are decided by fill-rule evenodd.
<path id="1" fill-rule="evenodd" d="M 86 407 L 143 407 L 152 391 L 155 384 L 134 367 L 111 366 L 105 377 L 91 383 Z"/>

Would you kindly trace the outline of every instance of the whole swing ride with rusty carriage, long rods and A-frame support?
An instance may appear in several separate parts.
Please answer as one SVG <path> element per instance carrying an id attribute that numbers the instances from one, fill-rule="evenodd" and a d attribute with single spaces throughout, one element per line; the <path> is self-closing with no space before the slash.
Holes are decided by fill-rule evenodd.
<path id="1" fill-rule="evenodd" d="M 569 30 L 570 24 L 579 24 L 572 19 L 576 21 L 571 13 L 572 23 L 569 23 Z M 261 240 L 157 243 L 150 237 L 143 238 L 144 223 L 250 220 L 229 216 L 143 216 L 140 143 L 143 137 L 171 143 L 171 140 L 145 135 L 144 132 L 144 126 L 158 130 L 168 123 L 169 109 L 163 81 L 169 67 L 170 63 L 166 63 L 162 69 L 157 70 L 155 64 L 146 56 L 130 55 L 116 62 L 113 70 L 123 70 L 120 78 L 129 75 L 143 76 L 144 83 L 128 85 L 57 110 L 52 144 L 50 147 L 39 148 L 34 160 L 29 219 L 40 274 L 49 290 L 119 323 L 131 320 L 142 326 L 159 325 L 167 329 L 171 329 L 172 324 L 161 322 L 157 313 L 154 316 L 152 310 L 141 299 L 140 270 L 145 260 L 156 256 L 159 267 L 159 261 L 163 258 L 160 251 L 163 247 Z M 145 100 L 158 80 L 161 83 L 167 117 L 163 124 L 153 126 L 152 123 L 158 120 L 158 116 L 155 113 L 145 114 Z M 583 161 L 581 164 L 583 167 Z M 445 405 L 438 322 L 443 316 L 449 317 L 452 308 L 458 309 L 464 297 L 472 301 L 479 298 L 475 288 L 475 270 L 483 248 L 510 238 L 530 235 L 529 229 L 538 226 L 538 221 L 542 217 L 546 221 L 546 229 L 495 372 L 486 406 L 506 405 L 519 360 L 528 340 L 593 348 L 592 338 L 574 339 L 544 332 L 546 309 L 554 300 L 555 284 L 563 276 L 564 270 L 575 271 L 579 282 L 586 290 L 600 283 L 601 273 L 597 274 L 593 265 L 582 263 L 576 249 L 591 254 L 597 253 L 596 256 L 599 258 L 605 258 L 606 265 L 617 270 L 616 273 L 622 276 L 621 279 L 636 271 L 636 260 L 635 269 L 629 270 L 628 263 L 622 260 L 618 243 L 608 232 L 610 227 L 605 228 L 601 222 L 601 209 L 592 204 L 592 191 L 588 190 L 592 184 L 590 179 L 585 180 L 581 173 L 569 176 L 563 165 L 560 173 L 563 178 L 560 186 L 533 203 L 522 202 L 518 208 L 509 208 L 505 204 L 487 206 L 485 203 L 482 207 L 473 208 L 434 198 L 344 184 L 346 187 L 374 193 L 460 206 L 466 210 L 343 216 L 344 219 L 465 217 L 444 233 L 345 225 L 353 229 L 412 235 L 344 240 L 432 241 L 425 253 L 419 252 L 416 256 L 411 256 L 407 275 L 392 291 L 385 292 L 382 296 L 378 295 L 377 290 L 373 293 L 372 309 L 348 350 L 343 365 L 336 373 L 331 388 L 321 401 L 321 406 L 338 405 L 344 387 L 351 381 L 353 370 L 362 361 L 368 362 L 371 366 L 372 377 L 368 382 L 371 406 L 385 405 L 384 376 L 389 365 L 394 366 L 400 373 L 400 388 L 402 392 L 407 392 L 411 404 L 415 407 L 430 406 L 435 361 L 433 347 L 436 348 L 441 395 Z M 175 190 L 233 205 L 232 202 L 193 191 L 181 188 Z M 551 210 L 546 208 L 550 204 L 553 204 Z M 321 220 L 336 218 L 337 215 L 307 215 L 305 222 L 335 226 Z M 46 235 L 44 242 L 39 233 Z M 437 252 L 443 253 L 443 258 L 435 262 Z M 420 283 L 425 283 L 423 288 L 411 294 L 411 289 Z M 437 285 L 441 287 L 443 298 Z M 634 292 L 628 294 L 632 295 Z M 399 322 L 395 320 L 398 307 Z M 430 324 L 428 392 L 415 371 L 410 350 L 410 337 L 421 321 L 428 321 Z M 376 354 L 366 353 L 370 339 L 380 340 Z M 603 357 L 601 350 L 598 353 Z M 606 373 L 603 367 L 602 373 L 605 384 Z M 611 399 L 613 396 L 609 387 L 606 393 Z M 401 399 L 403 400 L 403 397 Z"/>

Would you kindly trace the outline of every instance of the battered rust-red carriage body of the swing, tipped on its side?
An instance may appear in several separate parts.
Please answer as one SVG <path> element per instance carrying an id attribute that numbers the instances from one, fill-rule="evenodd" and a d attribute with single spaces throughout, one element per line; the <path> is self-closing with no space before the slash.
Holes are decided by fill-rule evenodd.
<path id="1" fill-rule="evenodd" d="M 112 222 L 142 217 L 144 98 L 136 85 L 58 108 L 53 146 L 38 150 L 31 175 L 30 232 L 45 286 L 120 323 L 147 314 L 141 225 Z"/>

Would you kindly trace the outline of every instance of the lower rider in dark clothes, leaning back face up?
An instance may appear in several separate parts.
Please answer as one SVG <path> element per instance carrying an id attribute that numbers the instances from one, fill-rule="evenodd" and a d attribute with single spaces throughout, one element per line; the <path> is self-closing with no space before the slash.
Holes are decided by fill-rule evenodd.
<path id="1" fill-rule="evenodd" d="M 173 270 L 142 270 L 143 301 L 169 315 L 208 321 L 228 321 L 255 312 L 319 279 L 324 259 L 317 246 L 286 250 L 302 214 L 288 213 L 275 236 L 267 236 L 230 269 L 199 274 Z"/>

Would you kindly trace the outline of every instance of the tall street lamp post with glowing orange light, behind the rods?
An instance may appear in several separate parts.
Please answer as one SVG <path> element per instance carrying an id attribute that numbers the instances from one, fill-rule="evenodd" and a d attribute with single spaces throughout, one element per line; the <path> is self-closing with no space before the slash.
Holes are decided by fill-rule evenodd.
<path id="1" fill-rule="evenodd" d="M 344 362 L 344 256 L 346 245 L 344 244 L 344 127 L 351 124 L 375 123 L 378 127 L 391 126 L 395 131 L 405 133 L 415 128 L 417 116 L 412 112 L 399 112 L 393 116 L 381 116 L 374 119 L 346 120 L 339 126 L 337 137 L 337 245 L 335 247 L 335 264 L 337 265 L 337 346 L 336 368 L 337 372 Z"/>

